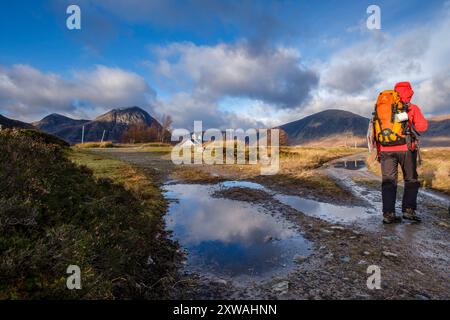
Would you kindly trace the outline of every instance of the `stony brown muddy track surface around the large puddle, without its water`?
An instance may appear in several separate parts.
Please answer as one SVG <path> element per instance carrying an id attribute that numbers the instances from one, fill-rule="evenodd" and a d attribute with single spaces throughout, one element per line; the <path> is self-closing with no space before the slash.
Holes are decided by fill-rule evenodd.
<path id="1" fill-rule="evenodd" d="M 101 152 L 149 170 L 161 184 L 170 180 L 174 170 L 167 156 L 138 150 Z M 340 165 L 358 159 L 363 156 L 335 160 L 319 169 L 361 200 L 364 216 L 353 221 L 327 220 L 312 215 L 309 208 L 295 208 L 280 201 L 280 194 L 264 183 L 268 191 L 261 191 L 263 196 L 245 192 L 248 188 L 216 193 L 215 197 L 250 203 L 261 214 L 282 216 L 313 244 L 312 253 L 295 259 L 294 266 L 280 276 L 245 284 L 181 270 L 183 280 L 174 286 L 175 295 L 188 299 L 449 299 L 448 199 L 421 192 L 421 224 L 383 226 L 378 178 L 365 168 L 348 170 Z M 333 207 L 324 208 L 333 215 Z M 367 287 L 370 265 L 381 268 L 380 290 Z"/>

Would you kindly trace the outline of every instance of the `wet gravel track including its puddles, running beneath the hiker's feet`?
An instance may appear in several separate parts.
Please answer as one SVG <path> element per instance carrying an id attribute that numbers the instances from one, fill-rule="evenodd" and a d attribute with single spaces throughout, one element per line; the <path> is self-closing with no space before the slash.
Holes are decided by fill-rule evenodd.
<path id="1" fill-rule="evenodd" d="M 180 298 L 450 298 L 448 198 L 421 192 L 421 224 L 384 226 L 379 182 L 362 155 L 319 169 L 353 195 L 350 207 L 256 180 L 174 180 L 167 156 L 138 149 L 95 152 L 160 178 L 171 200 L 167 227 L 187 254 L 174 286 Z M 369 266 L 380 268 L 381 289 L 368 288 Z"/>

